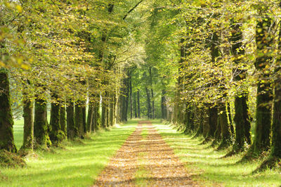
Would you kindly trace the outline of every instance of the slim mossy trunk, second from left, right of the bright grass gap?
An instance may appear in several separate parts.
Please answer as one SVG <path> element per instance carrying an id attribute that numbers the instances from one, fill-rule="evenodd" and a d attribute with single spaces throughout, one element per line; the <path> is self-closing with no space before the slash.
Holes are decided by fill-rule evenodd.
<path id="1" fill-rule="evenodd" d="M 23 143 L 21 150 L 33 150 L 33 131 L 34 131 L 34 105 L 30 98 L 27 96 L 25 91 L 22 92 L 23 98 Z"/>

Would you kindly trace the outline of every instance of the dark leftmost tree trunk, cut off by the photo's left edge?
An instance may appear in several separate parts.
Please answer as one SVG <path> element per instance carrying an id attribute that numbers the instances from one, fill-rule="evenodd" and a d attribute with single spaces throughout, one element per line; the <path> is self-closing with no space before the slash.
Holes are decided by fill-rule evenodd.
<path id="1" fill-rule="evenodd" d="M 17 152 L 13 140 L 13 115 L 8 71 L 0 68 L 0 150 Z"/>

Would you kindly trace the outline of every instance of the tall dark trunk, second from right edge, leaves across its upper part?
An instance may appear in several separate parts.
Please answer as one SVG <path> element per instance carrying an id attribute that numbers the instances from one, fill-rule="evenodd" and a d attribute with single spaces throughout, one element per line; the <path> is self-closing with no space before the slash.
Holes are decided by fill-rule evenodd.
<path id="1" fill-rule="evenodd" d="M 263 18 L 256 26 L 257 54 L 256 69 L 261 72 L 259 75 L 257 97 L 256 97 L 256 133 L 253 148 L 254 153 L 266 151 L 270 148 L 270 129 L 271 129 L 271 106 L 273 104 L 273 91 L 269 73 L 266 73 L 266 65 L 272 63 L 272 57 L 268 49 L 273 47 L 273 36 L 269 33 L 271 19 Z M 273 49 L 271 49 L 273 50 Z"/>

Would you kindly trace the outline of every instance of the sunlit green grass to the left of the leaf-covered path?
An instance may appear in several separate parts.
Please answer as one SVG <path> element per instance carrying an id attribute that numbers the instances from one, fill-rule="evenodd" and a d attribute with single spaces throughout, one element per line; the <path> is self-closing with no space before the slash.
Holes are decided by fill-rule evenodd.
<path id="1" fill-rule="evenodd" d="M 15 143 L 22 143 L 21 122 L 15 123 Z M 91 186 L 116 150 L 134 131 L 137 121 L 100 131 L 64 148 L 37 152 L 26 158 L 26 168 L 0 168 L 0 186 Z"/>

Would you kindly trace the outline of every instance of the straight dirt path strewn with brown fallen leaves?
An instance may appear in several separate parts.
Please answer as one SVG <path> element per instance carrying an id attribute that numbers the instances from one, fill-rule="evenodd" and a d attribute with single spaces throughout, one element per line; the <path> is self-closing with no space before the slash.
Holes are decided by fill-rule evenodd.
<path id="1" fill-rule="evenodd" d="M 138 123 L 94 186 L 199 186 L 149 121 Z"/>

